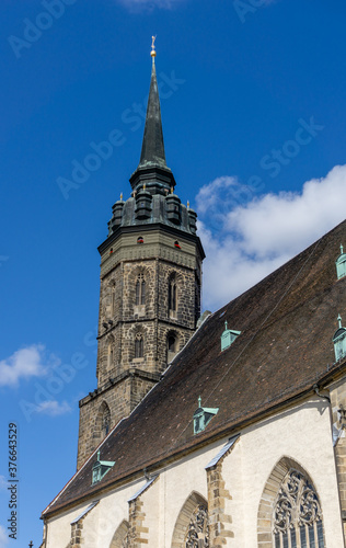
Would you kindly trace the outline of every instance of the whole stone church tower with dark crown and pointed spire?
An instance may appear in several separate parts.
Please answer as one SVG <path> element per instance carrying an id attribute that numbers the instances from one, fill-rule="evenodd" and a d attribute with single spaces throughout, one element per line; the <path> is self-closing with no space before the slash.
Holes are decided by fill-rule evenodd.
<path id="1" fill-rule="evenodd" d="M 131 195 L 113 206 L 100 246 L 97 388 L 80 401 L 77 467 L 141 401 L 187 343 L 200 315 L 196 213 L 175 194 L 166 165 L 152 44 L 152 72 Z"/>

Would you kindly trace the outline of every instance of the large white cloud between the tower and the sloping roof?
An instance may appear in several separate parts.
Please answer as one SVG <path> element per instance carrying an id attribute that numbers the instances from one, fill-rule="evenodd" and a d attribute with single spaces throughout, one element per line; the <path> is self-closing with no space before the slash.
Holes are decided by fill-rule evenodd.
<path id="1" fill-rule="evenodd" d="M 300 193 L 260 197 L 235 178 L 219 178 L 196 201 L 207 254 L 204 308 L 216 309 L 344 220 L 346 165 L 308 181 Z"/>

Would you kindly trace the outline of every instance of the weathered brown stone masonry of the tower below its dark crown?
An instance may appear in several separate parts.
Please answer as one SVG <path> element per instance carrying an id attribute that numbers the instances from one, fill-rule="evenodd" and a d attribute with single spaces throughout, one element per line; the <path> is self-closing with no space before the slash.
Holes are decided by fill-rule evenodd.
<path id="1" fill-rule="evenodd" d="M 122 235 L 102 255 L 97 388 L 80 402 L 78 467 L 105 436 L 100 418 L 97 423 L 102 403 L 109 408 L 111 427 L 127 416 L 187 343 L 199 317 L 201 259 L 196 242 L 182 236 L 178 249 L 176 237 L 153 229 L 138 244 L 139 235 Z M 143 304 L 136 302 L 139 276 L 146 284 Z M 172 276 L 177 304 L 173 313 L 169 310 Z M 136 357 L 139 335 L 143 355 Z M 169 336 L 175 339 L 170 353 Z"/>

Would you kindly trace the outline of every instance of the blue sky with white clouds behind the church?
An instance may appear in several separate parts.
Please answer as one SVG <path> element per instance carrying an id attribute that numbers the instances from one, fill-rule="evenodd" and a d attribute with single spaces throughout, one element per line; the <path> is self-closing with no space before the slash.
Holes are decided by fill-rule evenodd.
<path id="1" fill-rule="evenodd" d="M 345 217 L 345 24 L 342 0 L 1 1 L 1 548 L 39 546 L 76 470 L 96 248 L 139 161 L 152 34 L 168 164 L 198 212 L 215 310 Z"/>

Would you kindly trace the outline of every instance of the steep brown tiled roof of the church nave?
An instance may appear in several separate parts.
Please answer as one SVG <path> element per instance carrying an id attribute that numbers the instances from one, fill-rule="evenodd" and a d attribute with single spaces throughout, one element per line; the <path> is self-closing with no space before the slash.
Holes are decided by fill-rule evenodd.
<path id="1" fill-rule="evenodd" d="M 346 309 L 346 276 L 337 279 L 335 267 L 343 241 L 346 221 L 212 313 L 162 380 L 102 443 L 102 458 L 115 461 L 106 477 L 92 486 L 92 456 L 44 515 L 216 436 L 235 434 L 246 421 L 346 367 L 345 359 L 334 364 L 332 341 L 337 315 Z M 224 320 L 241 334 L 221 352 Z M 194 435 L 199 396 L 219 412 Z"/>

